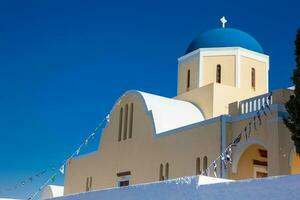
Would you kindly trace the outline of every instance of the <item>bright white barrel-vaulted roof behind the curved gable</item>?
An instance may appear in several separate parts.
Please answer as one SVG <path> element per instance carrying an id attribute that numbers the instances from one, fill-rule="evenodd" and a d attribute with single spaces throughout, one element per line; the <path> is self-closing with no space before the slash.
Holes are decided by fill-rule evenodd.
<path id="1" fill-rule="evenodd" d="M 136 90 L 126 94 L 137 94 L 144 101 L 153 117 L 156 134 L 171 131 L 204 120 L 202 112 L 192 103 Z M 126 95 L 125 94 L 125 95 Z"/>

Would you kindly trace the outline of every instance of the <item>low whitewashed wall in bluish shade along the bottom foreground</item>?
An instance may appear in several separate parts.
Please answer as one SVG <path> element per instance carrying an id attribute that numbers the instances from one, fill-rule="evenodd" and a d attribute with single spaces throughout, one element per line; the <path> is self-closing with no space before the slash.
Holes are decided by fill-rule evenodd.
<path id="1" fill-rule="evenodd" d="M 206 178 L 206 179 L 205 179 Z M 220 182 L 221 183 L 215 183 Z M 300 175 L 228 182 L 184 177 L 164 182 L 98 190 L 55 200 L 282 200 L 300 199 Z"/>

